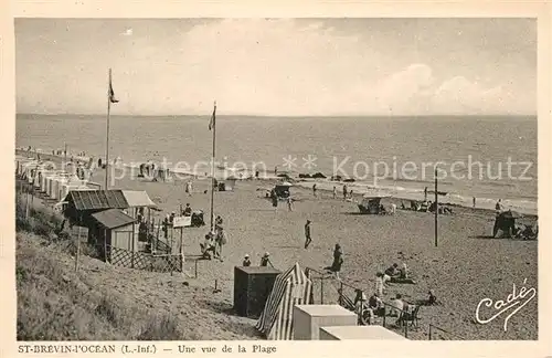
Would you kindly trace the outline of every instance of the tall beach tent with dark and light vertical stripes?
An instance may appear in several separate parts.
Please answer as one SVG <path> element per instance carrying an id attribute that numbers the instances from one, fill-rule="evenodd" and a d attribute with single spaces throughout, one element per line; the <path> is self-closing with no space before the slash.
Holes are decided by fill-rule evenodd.
<path id="1" fill-rule="evenodd" d="M 309 304 L 311 291 L 312 282 L 298 263 L 280 273 L 274 282 L 273 291 L 255 328 L 267 339 L 293 339 L 294 306 Z"/>

